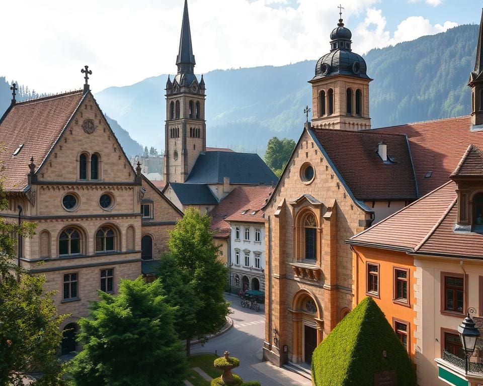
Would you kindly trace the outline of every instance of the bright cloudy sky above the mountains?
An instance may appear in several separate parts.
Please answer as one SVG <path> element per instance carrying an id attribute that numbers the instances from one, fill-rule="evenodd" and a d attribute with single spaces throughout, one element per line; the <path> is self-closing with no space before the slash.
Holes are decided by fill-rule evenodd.
<path id="1" fill-rule="evenodd" d="M 318 59 L 342 17 L 353 50 L 478 24 L 482 1 L 188 0 L 196 73 Z M 37 92 L 93 91 L 176 72 L 184 0 L 1 1 L 0 76 Z"/>

